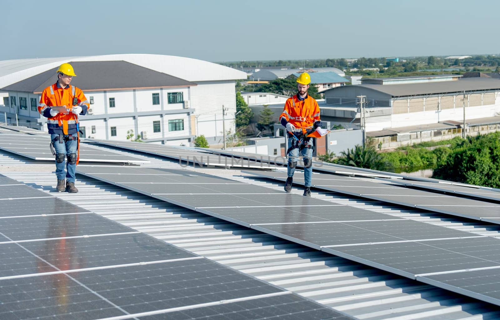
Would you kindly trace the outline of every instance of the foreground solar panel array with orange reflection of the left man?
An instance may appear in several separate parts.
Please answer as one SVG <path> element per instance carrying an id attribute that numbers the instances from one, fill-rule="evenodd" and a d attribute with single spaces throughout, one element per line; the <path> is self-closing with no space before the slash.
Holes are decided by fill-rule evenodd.
<path id="1" fill-rule="evenodd" d="M 351 319 L 3 175 L 0 192 L 2 320 Z"/>

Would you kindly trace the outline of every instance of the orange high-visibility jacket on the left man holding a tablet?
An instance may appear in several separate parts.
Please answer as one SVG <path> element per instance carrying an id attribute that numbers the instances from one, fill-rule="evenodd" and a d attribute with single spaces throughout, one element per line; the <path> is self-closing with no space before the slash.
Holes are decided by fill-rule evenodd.
<path id="1" fill-rule="evenodd" d="M 88 100 L 83 92 L 73 86 L 67 85 L 62 88 L 58 83 L 47 86 L 41 93 L 40 103 L 38 103 L 38 112 L 47 117 L 47 128 L 49 134 L 73 134 L 77 131 L 78 116 L 72 112 L 68 114 L 58 113 L 52 117 L 50 115 L 51 106 L 65 105 L 71 109 L 73 106 L 73 97 L 76 97 L 77 104 L 81 106 L 81 115 L 85 115 L 88 110 Z"/>

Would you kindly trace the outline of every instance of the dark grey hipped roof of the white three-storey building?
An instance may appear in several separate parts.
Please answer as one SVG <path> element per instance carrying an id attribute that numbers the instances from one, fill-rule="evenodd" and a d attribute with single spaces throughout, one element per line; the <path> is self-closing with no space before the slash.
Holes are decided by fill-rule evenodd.
<path id="1" fill-rule="evenodd" d="M 192 86 L 196 83 L 126 61 L 70 61 L 77 76 L 71 84 L 82 90 Z M 57 67 L 41 72 L 3 90 L 39 93 L 57 81 Z"/>

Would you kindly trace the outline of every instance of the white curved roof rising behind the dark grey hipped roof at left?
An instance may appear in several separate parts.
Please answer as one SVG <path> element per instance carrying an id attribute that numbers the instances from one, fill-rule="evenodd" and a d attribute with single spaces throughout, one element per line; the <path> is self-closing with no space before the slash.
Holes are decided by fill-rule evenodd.
<path id="1" fill-rule="evenodd" d="M 187 81 L 246 79 L 245 72 L 213 62 L 175 55 L 128 53 L 3 60 L 0 61 L 0 87 L 50 70 L 67 61 L 127 61 Z"/>

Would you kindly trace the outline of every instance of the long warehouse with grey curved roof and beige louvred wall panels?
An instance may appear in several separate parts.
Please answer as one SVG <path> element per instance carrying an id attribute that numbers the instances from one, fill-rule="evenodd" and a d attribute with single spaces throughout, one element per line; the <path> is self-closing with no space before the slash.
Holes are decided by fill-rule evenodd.
<path id="1" fill-rule="evenodd" d="M 343 85 L 324 92 L 321 119 L 359 125 L 359 100 L 365 95 L 366 131 L 421 126 L 442 121 L 495 117 L 500 123 L 500 81 L 492 78 Z M 354 120 L 354 121 L 353 121 Z M 344 125 L 344 127 L 348 127 Z"/>

